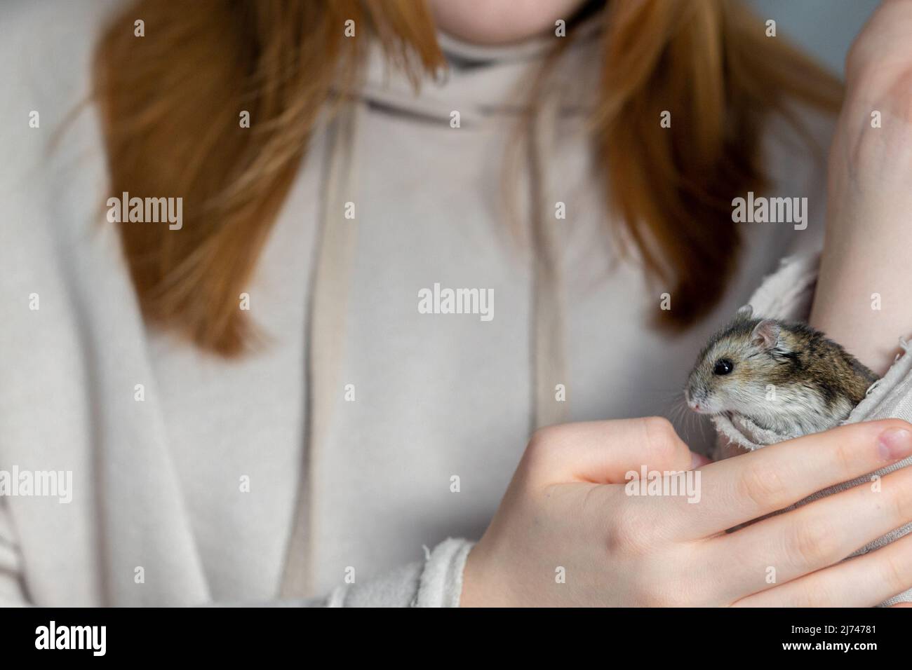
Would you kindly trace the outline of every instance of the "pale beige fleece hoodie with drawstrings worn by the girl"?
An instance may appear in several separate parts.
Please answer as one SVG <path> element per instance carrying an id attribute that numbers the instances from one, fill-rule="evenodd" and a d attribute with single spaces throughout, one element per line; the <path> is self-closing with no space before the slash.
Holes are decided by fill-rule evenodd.
<path id="1" fill-rule="evenodd" d="M 514 89 L 552 38 L 503 49 L 444 39 L 445 81 L 416 95 L 375 54 L 356 108 L 318 129 L 247 291 L 264 339 L 226 364 L 143 324 L 104 221 L 96 109 L 48 152 L 88 94 L 91 49 L 117 5 L 0 8 L 0 469 L 74 478 L 69 504 L 0 499 L 3 603 L 456 604 L 470 541 L 546 403 L 567 420 L 668 415 L 705 339 L 783 256 L 820 248 L 824 165 L 771 119 L 769 195 L 807 197 L 807 229 L 745 223 L 718 308 L 685 335 L 653 329 L 667 287 L 606 237 L 584 131 L 597 45 L 581 40 L 535 138 L 543 158 L 525 166 L 540 170 L 546 211 L 567 211 L 551 220 L 559 283 L 541 286 L 499 195 Z M 828 146 L 831 122 L 803 118 Z M 335 178 L 333 166 L 344 168 Z M 355 221 L 327 209 L 338 199 L 356 203 Z M 434 283 L 492 289 L 494 318 L 419 314 L 418 292 Z M 536 312 L 543 303 L 559 305 L 559 322 Z M 557 372 L 543 343 L 558 343 Z M 710 448 L 708 432 L 679 428 Z"/>

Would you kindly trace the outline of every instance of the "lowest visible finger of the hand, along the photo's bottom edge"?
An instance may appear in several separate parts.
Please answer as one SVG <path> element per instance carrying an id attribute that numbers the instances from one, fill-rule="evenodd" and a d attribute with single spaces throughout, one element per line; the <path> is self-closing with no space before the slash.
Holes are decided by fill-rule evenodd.
<path id="1" fill-rule="evenodd" d="M 912 535 L 741 599 L 750 607 L 872 607 L 912 588 Z"/>

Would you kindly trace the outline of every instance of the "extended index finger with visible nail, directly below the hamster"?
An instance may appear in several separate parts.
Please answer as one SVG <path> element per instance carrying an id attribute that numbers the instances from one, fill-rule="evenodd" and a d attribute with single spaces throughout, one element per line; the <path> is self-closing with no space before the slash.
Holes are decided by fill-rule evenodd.
<path id="1" fill-rule="evenodd" d="M 912 426 L 900 419 L 841 426 L 790 439 L 700 469 L 700 500 L 653 499 L 696 540 L 758 519 L 812 493 L 912 454 Z M 670 515 L 670 516 L 668 516 Z"/>

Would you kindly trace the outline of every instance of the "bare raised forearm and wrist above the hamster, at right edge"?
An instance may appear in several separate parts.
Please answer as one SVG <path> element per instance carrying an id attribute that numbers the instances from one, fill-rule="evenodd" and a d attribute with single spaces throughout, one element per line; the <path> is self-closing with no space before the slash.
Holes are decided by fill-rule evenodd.
<path id="1" fill-rule="evenodd" d="M 878 374 L 912 331 L 912 0 L 886 0 L 845 62 L 811 324 Z"/>

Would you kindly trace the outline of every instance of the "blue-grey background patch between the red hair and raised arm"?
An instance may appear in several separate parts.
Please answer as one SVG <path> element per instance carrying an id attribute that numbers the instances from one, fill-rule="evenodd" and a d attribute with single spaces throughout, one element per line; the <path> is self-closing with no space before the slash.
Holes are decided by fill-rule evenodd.
<path id="1" fill-rule="evenodd" d="M 748 4 L 763 19 L 775 19 L 778 35 L 789 36 L 842 75 L 845 54 L 879 0 L 750 0 Z"/>

